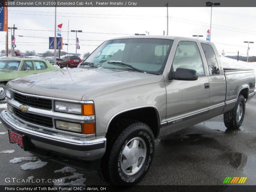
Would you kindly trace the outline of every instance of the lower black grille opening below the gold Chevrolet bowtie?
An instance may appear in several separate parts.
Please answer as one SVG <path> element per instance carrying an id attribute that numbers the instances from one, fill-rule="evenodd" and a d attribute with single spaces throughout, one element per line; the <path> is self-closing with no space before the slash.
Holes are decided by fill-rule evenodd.
<path id="1" fill-rule="evenodd" d="M 52 118 L 51 117 L 45 117 L 42 115 L 35 115 L 32 113 L 24 113 L 20 111 L 19 109 L 14 108 L 14 114 L 19 117 L 20 119 L 32 123 L 37 124 L 45 127 L 53 127 Z"/>

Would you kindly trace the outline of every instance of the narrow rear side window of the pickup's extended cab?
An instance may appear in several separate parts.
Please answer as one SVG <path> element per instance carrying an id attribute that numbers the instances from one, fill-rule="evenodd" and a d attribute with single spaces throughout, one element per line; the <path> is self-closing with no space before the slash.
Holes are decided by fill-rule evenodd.
<path id="1" fill-rule="evenodd" d="M 210 75 L 218 75 L 220 74 L 219 65 L 216 59 L 216 55 L 212 49 L 212 46 L 209 44 L 201 43 L 204 54 L 207 60 L 207 64 L 209 66 Z"/>

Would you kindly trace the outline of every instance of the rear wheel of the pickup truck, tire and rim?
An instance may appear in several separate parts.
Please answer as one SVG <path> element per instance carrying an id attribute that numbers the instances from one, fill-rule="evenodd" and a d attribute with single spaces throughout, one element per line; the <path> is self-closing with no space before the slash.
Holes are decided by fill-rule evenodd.
<path id="1" fill-rule="evenodd" d="M 239 95 L 235 107 L 224 113 L 224 124 L 228 129 L 238 129 L 243 123 L 245 115 L 245 100 L 243 95 Z"/>

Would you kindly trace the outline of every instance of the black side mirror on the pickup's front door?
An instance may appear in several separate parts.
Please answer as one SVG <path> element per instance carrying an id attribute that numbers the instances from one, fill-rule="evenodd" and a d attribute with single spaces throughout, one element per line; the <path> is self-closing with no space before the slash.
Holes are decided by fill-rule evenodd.
<path id="1" fill-rule="evenodd" d="M 177 68 L 176 71 L 170 72 L 169 80 L 171 79 L 183 80 L 183 81 L 196 81 L 198 79 L 198 75 L 196 70 L 194 69 Z"/>

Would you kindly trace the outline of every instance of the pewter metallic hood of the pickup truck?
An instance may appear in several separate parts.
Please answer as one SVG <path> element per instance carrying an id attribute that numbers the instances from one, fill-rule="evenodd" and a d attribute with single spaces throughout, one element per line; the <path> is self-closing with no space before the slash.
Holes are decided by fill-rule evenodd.
<path id="1" fill-rule="evenodd" d="M 8 87 L 20 92 L 48 97 L 84 100 L 90 93 L 124 89 L 140 84 L 163 81 L 162 75 L 106 68 L 74 68 L 37 74 L 12 80 Z"/>

